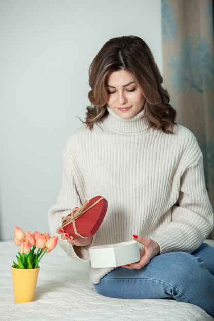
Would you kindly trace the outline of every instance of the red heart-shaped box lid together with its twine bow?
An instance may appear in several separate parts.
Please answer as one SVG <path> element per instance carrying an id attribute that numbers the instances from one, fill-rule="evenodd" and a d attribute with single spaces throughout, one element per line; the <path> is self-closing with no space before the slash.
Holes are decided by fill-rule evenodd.
<path id="1" fill-rule="evenodd" d="M 72 211 L 66 217 L 62 217 L 63 224 L 57 229 L 57 233 L 61 234 L 60 229 L 62 228 L 64 233 L 73 237 L 91 237 L 103 222 L 107 208 L 107 200 L 102 196 L 95 196 L 88 203 L 85 201 L 82 207 Z M 79 213 L 81 216 L 78 217 Z M 75 218 L 76 214 L 77 217 Z M 66 225 L 64 226 L 64 224 Z M 77 231 L 77 234 L 75 231 Z"/>

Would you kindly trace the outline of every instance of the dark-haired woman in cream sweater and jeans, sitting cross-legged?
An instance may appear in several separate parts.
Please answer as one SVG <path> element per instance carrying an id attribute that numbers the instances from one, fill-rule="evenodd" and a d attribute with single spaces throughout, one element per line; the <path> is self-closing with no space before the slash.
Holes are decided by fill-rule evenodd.
<path id="1" fill-rule="evenodd" d="M 59 244 L 88 261 L 89 247 L 139 242 L 140 261 L 91 268 L 98 293 L 117 298 L 172 298 L 214 316 L 213 229 L 203 156 L 176 111 L 152 53 L 139 37 L 110 39 L 89 69 L 84 124 L 62 153 L 62 186 L 49 211 L 52 234 L 85 199 L 102 195 L 108 211 L 90 238 L 63 234 Z M 69 236 L 69 237 L 68 237 Z"/>

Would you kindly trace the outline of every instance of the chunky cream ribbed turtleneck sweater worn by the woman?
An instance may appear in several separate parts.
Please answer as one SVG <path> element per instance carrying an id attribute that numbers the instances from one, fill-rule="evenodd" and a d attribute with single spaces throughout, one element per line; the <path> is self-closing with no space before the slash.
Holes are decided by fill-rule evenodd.
<path id="1" fill-rule="evenodd" d="M 146 117 L 140 119 L 144 110 L 122 119 L 107 109 L 92 131 L 83 124 L 67 140 L 58 202 L 48 213 L 51 234 L 57 235 L 61 216 L 100 195 L 108 210 L 91 245 L 77 247 L 59 237 L 71 258 L 88 261 L 90 246 L 132 240 L 132 234 L 158 242 L 160 254 L 193 252 L 214 224 L 193 133 L 181 125 L 174 126 L 175 134 L 147 131 Z M 91 282 L 113 269 L 91 268 Z"/>

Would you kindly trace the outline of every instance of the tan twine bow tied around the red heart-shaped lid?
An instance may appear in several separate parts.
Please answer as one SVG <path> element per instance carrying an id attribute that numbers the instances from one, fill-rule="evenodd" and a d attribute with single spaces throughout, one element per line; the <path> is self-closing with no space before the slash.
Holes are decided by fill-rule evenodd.
<path id="1" fill-rule="evenodd" d="M 85 210 L 85 207 L 86 205 L 89 203 L 89 200 L 85 200 L 85 202 L 83 203 L 83 205 L 77 209 L 77 211 L 74 213 L 74 210 L 70 213 L 71 215 L 69 216 L 62 216 L 61 217 L 61 220 L 62 220 L 62 225 L 56 230 L 56 232 L 58 234 L 61 234 L 60 233 L 60 230 L 63 229 L 66 225 L 72 223 L 73 224 L 73 229 L 74 229 L 74 232 L 76 235 L 82 237 L 82 238 L 87 238 L 87 237 L 84 237 L 82 236 L 81 234 L 79 234 L 77 232 L 77 229 L 76 229 L 76 219 L 79 218 L 80 216 L 82 216 L 85 212 L 87 212 L 88 210 L 90 210 L 94 205 L 98 204 L 102 199 L 105 199 L 104 197 L 101 197 L 99 198 L 98 200 L 96 200 L 96 202 L 94 202 L 93 204 L 91 204 L 86 210 Z"/>

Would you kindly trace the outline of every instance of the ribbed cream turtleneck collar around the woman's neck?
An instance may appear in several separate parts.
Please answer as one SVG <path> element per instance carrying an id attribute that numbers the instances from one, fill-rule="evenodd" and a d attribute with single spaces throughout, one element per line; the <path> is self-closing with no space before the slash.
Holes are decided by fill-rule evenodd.
<path id="1" fill-rule="evenodd" d="M 142 132 L 146 132 L 149 122 L 146 117 L 140 119 L 144 115 L 144 109 L 142 108 L 136 115 L 130 119 L 122 119 L 115 112 L 106 105 L 108 115 L 102 119 L 102 124 L 111 131 L 119 134 L 133 135 Z"/>

